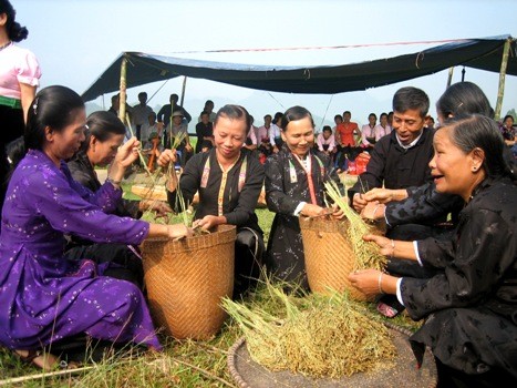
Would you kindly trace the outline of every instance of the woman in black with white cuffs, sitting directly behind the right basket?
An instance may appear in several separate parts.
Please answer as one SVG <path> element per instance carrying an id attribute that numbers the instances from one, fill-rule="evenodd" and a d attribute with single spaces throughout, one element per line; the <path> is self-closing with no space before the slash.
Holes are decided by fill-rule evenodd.
<path id="1" fill-rule="evenodd" d="M 293 106 L 282 116 L 280 151 L 266 162 L 266 201 L 277 213 L 269 235 L 266 265 L 278 278 L 299 283 L 309 289 L 299 215 L 323 214 L 324 182 L 343 185 L 332 161 L 314 150 L 314 122 L 310 112 Z M 341 217 L 342 212 L 334 216 Z"/>

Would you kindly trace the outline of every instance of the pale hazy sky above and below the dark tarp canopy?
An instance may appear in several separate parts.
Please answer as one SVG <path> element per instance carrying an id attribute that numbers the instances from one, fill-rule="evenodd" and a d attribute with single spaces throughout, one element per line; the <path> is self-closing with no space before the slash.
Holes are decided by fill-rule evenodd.
<path id="1" fill-rule="evenodd" d="M 38 57 L 41 88 L 62 84 L 83 93 L 124 51 L 249 64 L 310 65 L 350 63 L 344 50 L 297 50 L 207 53 L 220 49 L 328 48 L 350 44 L 440 41 L 510 34 L 517 37 L 515 0 L 11 0 L 17 21 L 29 29 L 20 43 Z M 438 43 L 436 43 L 438 44 Z M 375 50 L 375 58 L 407 52 L 395 45 Z M 349 51 L 349 50 L 348 50 Z M 358 50 L 359 51 L 359 50 Z M 418 50 L 415 50 L 418 51 Z M 347 57 L 347 58 L 344 58 Z M 184 108 L 196 116 L 204 102 L 216 110 L 226 103 L 246 106 L 261 125 L 263 115 L 302 105 L 330 123 L 345 110 L 352 121 L 391 110 L 397 89 L 412 85 L 430 96 L 430 114 L 446 88 L 448 71 L 392 85 L 339 94 L 291 94 L 256 91 L 187 79 Z M 462 80 L 455 68 L 453 83 Z M 477 83 L 495 108 L 498 73 L 466 69 L 465 80 Z M 127 91 L 130 104 L 146 91 L 154 109 L 170 93 L 182 94 L 183 78 L 149 83 Z M 93 102 L 107 109 L 107 94 Z M 517 109 L 517 76 L 507 75 L 502 115 Z M 323 121 L 324 119 L 324 121 Z M 192 129 L 194 130 L 194 129 Z"/>

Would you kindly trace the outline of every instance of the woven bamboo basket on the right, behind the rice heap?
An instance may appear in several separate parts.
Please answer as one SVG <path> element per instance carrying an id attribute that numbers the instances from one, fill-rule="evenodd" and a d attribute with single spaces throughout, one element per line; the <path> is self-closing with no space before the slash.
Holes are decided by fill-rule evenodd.
<path id="1" fill-rule="evenodd" d="M 347 236 L 348 225 L 348 221 L 300 217 L 307 278 L 314 293 L 348 290 L 352 298 L 366 300 L 366 296 L 348 278 L 355 263 L 355 254 Z"/>

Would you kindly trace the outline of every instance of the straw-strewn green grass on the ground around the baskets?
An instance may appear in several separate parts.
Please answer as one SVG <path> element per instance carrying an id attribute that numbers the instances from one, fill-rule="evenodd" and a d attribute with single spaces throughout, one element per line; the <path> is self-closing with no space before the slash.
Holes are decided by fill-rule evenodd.
<path id="1" fill-rule="evenodd" d="M 133 200 L 131 186 L 124 184 L 124 196 Z M 273 213 L 267 208 L 256 210 L 259 225 L 265 232 L 265 241 L 269 237 Z M 260 300 L 255 295 L 254 300 Z M 375 306 L 369 306 L 372 312 Z M 387 320 L 387 318 L 385 318 Z M 402 314 L 390 320 L 409 329 L 415 329 L 417 324 Z M 231 319 L 228 319 L 221 331 L 207 341 L 177 341 L 162 337 L 164 353 L 144 354 L 132 359 L 107 358 L 99 364 L 89 364 L 90 370 L 72 376 L 45 377 L 28 379 L 19 384 L 4 384 L 7 387 L 227 387 L 237 386 L 227 368 L 227 351 L 242 333 Z M 21 363 L 12 354 L 0 348 L 0 386 L 8 378 L 25 377 L 41 374 L 34 366 Z"/>

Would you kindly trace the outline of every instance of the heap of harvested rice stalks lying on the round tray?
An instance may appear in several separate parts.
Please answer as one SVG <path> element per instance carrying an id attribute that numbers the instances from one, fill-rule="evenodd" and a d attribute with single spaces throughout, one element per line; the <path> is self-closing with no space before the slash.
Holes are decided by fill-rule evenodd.
<path id="1" fill-rule="evenodd" d="M 267 283 L 260 306 L 225 298 L 223 307 L 242 329 L 251 358 L 272 371 L 340 378 L 394 365 L 387 328 L 366 307 L 332 293 L 304 298 Z M 282 312 L 271 306 L 282 305 Z"/>

